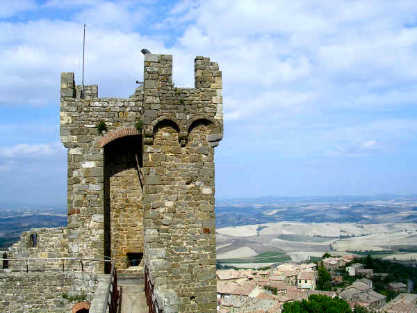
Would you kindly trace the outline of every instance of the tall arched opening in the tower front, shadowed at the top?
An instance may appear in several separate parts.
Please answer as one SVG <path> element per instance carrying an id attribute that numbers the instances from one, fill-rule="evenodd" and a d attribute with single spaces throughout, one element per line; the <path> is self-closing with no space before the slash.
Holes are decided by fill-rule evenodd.
<path id="1" fill-rule="evenodd" d="M 104 146 L 104 253 L 117 271 L 138 266 L 143 255 L 142 137 Z M 110 273 L 111 264 L 106 264 Z"/>

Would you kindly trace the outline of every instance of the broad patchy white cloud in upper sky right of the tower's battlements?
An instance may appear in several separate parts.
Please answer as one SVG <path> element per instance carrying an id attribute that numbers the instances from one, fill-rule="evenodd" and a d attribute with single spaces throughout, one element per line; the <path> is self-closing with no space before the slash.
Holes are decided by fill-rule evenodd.
<path id="1" fill-rule="evenodd" d="M 417 76 L 409 66 L 417 61 L 417 29 L 404 26 L 414 22 L 416 12 L 411 1 L 384 6 L 378 1 L 204 1 L 189 10 L 181 6 L 181 14 L 167 22 L 189 24 L 179 49 L 220 63 L 225 99 L 240 94 L 237 101 L 243 102 L 248 95 L 285 88 L 315 93 L 312 110 L 361 111 L 414 102 L 413 88 L 393 90 Z M 402 94 L 401 103 L 395 93 Z M 234 116 L 247 116 L 240 110 L 245 108 Z"/>

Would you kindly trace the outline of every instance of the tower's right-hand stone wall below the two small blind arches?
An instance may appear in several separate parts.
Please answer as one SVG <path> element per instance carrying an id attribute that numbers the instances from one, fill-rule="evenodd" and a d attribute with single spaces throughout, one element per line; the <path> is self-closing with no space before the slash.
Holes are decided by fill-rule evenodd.
<path id="1" fill-rule="evenodd" d="M 179 312 L 215 312 L 214 125 L 193 123 L 181 147 L 172 125 L 145 145 L 145 234 L 156 285 L 174 289 Z"/>

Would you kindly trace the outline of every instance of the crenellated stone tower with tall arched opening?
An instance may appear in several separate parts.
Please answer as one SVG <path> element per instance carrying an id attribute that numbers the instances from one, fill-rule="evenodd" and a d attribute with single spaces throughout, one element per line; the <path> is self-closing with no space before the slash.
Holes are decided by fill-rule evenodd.
<path id="1" fill-rule="evenodd" d="M 119 99 L 61 74 L 68 256 L 115 259 L 118 273 L 143 271 L 132 261 L 142 259 L 165 312 L 214 312 L 222 72 L 197 56 L 195 88 L 177 88 L 172 56 L 145 54 L 143 77 L 134 95 Z"/>

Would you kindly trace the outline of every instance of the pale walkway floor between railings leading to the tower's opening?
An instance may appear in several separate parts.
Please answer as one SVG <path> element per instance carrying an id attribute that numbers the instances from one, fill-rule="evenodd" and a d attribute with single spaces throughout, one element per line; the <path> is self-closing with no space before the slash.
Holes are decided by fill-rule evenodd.
<path id="1" fill-rule="evenodd" d="M 122 286 L 121 313 L 149 312 L 143 278 L 118 278 L 117 284 Z"/>

